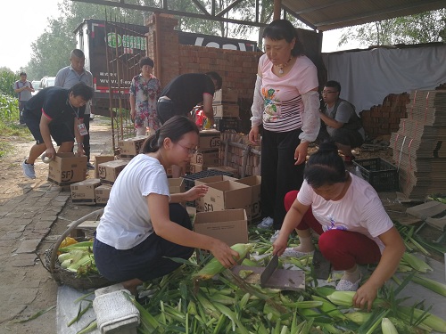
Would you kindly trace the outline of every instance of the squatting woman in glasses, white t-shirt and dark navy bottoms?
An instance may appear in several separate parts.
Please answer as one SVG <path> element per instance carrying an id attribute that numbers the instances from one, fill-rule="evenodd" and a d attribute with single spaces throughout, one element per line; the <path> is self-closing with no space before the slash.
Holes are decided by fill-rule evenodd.
<path id="1" fill-rule="evenodd" d="M 197 144 L 194 121 L 170 118 L 120 172 L 93 247 L 103 277 L 136 294 L 139 284 L 178 268 L 180 264 L 168 257 L 187 259 L 194 248 L 211 251 L 225 267 L 235 265 L 238 253 L 221 240 L 193 232 L 186 208 L 179 204 L 204 196 L 208 187 L 169 193 L 166 170 L 172 165 L 186 167 Z"/>

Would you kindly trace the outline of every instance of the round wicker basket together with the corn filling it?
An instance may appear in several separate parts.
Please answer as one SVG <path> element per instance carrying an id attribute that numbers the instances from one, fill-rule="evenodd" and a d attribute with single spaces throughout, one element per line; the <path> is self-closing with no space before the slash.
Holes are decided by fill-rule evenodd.
<path id="1" fill-rule="evenodd" d="M 54 281 L 75 289 L 98 289 L 112 284 L 97 271 L 93 240 L 70 237 L 70 232 L 79 224 L 102 213 L 103 208 L 73 222 L 54 245 L 45 250 L 42 264 L 51 273 Z"/>

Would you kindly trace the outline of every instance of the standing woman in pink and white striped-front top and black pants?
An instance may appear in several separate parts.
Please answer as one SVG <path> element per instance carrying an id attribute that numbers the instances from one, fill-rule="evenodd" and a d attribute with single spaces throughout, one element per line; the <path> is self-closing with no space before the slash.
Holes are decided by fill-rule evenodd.
<path id="1" fill-rule="evenodd" d="M 263 30 L 252 103 L 251 143 L 261 137 L 260 228 L 273 226 L 277 238 L 285 217 L 284 198 L 301 187 L 308 146 L 319 130 L 318 71 L 303 55 L 297 31 L 288 20 L 275 20 Z"/>

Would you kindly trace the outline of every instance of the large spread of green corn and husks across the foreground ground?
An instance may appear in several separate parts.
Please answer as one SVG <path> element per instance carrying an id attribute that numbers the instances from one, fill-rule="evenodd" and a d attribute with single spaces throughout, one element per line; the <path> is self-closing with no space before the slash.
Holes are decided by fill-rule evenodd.
<path id="1" fill-rule="evenodd" d="M 237 244 L 243 256 L 263 252 L 270 243 Z M 198 252 L 198 263 L 205 257 Z M 305 291 L 262 289 L 244 283 L 211 258 L 197 265 L 194 258 L 157 283 L 146 286 L 152 296 L 145 305 L 136 303 L 142 322 L 139 333 L 428 333 L 446 332 L 446 322 L 430 314 L 424 305 L 401 305 L 398 292 L 412 279 L 407 277 L 398 289 L 383 288 L 371 313 L 352 308 L 354 292 L 335 291 L 333 287 L 315 287 L 310 257 L 282 260 L 301 266 L 310 278 Z M 262 266 L 260 261 L 244 260 L 243 265 Z M 282 263 L 283 265 L 283 263 Z M 405 265 L 416 266 L 412 257 Z M 202 268 L 197 271 L 197 267 Z M 413 270 L 417 268 L 411 267 Z M 420 268 L 425 270 L 425 266 Z M 212 278 L 212 279 L 211 279 Z M 436 282 L 435 282 L 436 283 Z M 436 283 L 439 284 L 439 283 Z M 438 286 L 444 294 L 446 287 Z M 440 291 L 439 290 L 439 291 Z"/>

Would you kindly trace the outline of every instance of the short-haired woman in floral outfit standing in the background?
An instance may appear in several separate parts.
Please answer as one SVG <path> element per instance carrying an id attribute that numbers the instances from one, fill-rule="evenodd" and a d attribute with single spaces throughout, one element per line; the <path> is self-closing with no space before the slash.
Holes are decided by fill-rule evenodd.
<path id="1" fill-rule="evenodd" d="M 136 135 L 145 135 L 146 127 L 156 131 L 160 125 L 156 114 L 156 102 L 161 94 L 161 84 L 153 77 L 153 60 L 139 61 L 141 74 L 133 77 L 130 85 L 130 115 L 135 120 Z"/>

